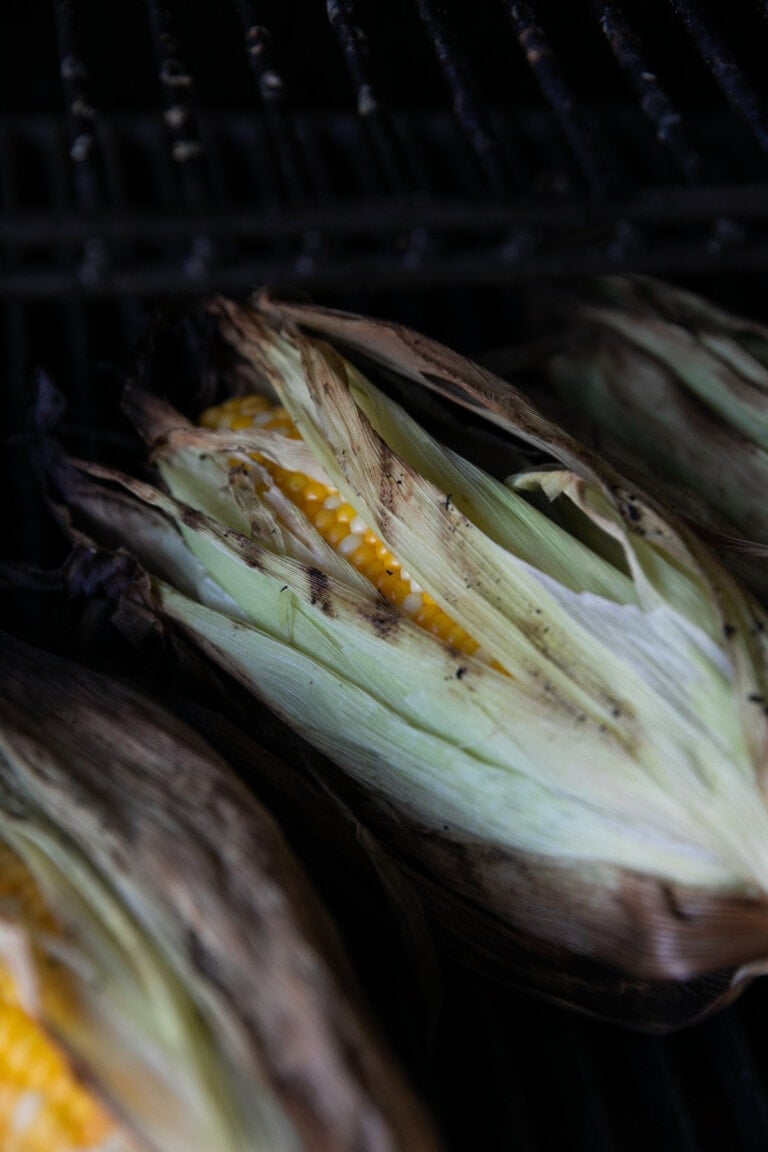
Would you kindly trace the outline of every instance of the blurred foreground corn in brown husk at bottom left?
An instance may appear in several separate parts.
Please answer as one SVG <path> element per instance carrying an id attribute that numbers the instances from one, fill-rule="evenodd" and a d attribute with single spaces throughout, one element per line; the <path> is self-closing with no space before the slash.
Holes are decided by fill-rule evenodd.
<path id="1" fill-rule="evenodd" d="M 436 1147 L 227 765 L 134 689 L 1 650 L 2 1147 Z"/>

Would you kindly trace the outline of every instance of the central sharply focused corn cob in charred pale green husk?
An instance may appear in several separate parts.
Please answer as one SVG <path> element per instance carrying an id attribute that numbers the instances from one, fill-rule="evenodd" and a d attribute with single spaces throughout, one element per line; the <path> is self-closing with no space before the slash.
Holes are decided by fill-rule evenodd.
<path id="1" fill-rule="evenodd" d="M 162 483 L 79 464 L 67 487 L 79 522 L 151 574 L 137 594 L 375 797 L 390 843 L 500 933 L 644 980 L 755 970 L 761 608 L 670 513 L 469 361 L 327 310 L 218 310 L 241 391 L 280 402 L 294 432 L 248 406 L 200 427 L 131 395 Z M 486 418 L 510 460 L 523 442 L 546 462 L 485 473 L 295 320 Z M 406 589 L 387 599 L 283 473 L 348 505 Z M 411 593 L 442 613 L 434 631 Z"/>

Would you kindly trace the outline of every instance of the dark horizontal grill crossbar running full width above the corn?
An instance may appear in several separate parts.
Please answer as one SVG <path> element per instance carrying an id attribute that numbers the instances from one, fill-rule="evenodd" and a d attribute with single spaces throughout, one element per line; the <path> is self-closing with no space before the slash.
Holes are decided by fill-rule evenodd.
<path id="1" fill-rule="evenodd" d="M 63 149 L 55 149 L 53 154 L 60 161 L 61 183 L 66 173 Z M 16 268 L 7 265 L 0 272 L 0 293 L 55 296 L 71 291 L 189 293 L 214 288 L 242 291 L 266 279 L 284 283 L 286 253 L 301 251 L 307 233 L 334 245 L 327 260 L 310 259 L 294 266 L 298 282 L 312 287 L 343 286 L 344 278 L 348 286 L 367 281 L 371 288 L 404 285 L 409 278 L 415 285 L 440 283 L 446 276 L 451 282 L 459 282 L 463 276 L 467 283 L 500 283 L 511 276 L 537 273 L 606 271 L 626 266 L 628 259 L 636 270 L 648 272 L 674 272 L 682 266 L 697 271 L 713 264 L 747 271 L 760 267 L 766 258 L 767 196 L 762 184 L 668 187 L 619 203 L 606 200 L 601 207 L 588 197 L 543 203 L 529 199 L 524 204 L 499 200 L 487 202 L 479 213 L 477 202 L 471 199 L 431 200 L 420 205 L 417 214 L 403 202 L 332 203 L 290 213 L 230 209 L 206 213 L 203 219 L 157 212 L 128 218 L 106 215 L 98 221 L 69 217 L 63 230 L 61 222 L 46 212 L 0 220 L 0 240 L 17 250 L 20 257 L 28 248 L 35 250 L 41 243 L 61 250 L 60 259 L 43 266 L 29 265 L 21 258 Z M 732 240 L 739 236 L 729 228 L 728 235 L 712 236 L 712 243 L 722 245 L 721 250 L 713 250 L 712 221 L 725 219 L 729 212 L 745 221 L 754 219 L 750 243 L 733 244 Z M 586 236 L 579 229 L 579 221 L 590 223 Z M 622 221 L 642 228 L 642 244 L 630 257 L 615 244 L 615 230 Z M 92 236 L 97 226 L 99 237 L 111 248 L 122 243 L 126 251 L 135 253 L 137 245 L 152 244 L 153 251 L 140 258 L 135 255 L 122 267 L 105 270 L 98 283 L 85 283 L 71 251 L 77 240 Z M 418 229 L 421 235 L 434 237 L 436 247 L 427 250 L 421 260 L 406 260 L 396 240 Z M 222 255 L 215 270 L 197 279 L 189 275 L 180 260 L 190 232 L 213 236 L 222 253 L 231 253 Z M 522 243 L 509 243 L 508 237 L 515 233 L 522 235 Z M 525 242 L 529 235 L 531 244 Z"/>

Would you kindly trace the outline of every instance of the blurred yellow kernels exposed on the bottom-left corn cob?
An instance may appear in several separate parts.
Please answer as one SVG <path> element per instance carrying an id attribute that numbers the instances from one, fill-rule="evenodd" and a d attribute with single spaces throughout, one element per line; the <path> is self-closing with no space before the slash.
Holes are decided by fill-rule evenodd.
<path id="1" fill-rule="evenodd" d="M 40 1003 L 45 1008 L 55 1002 L 75 1011 L 63 971 L 33 947 L 36 934 L 51 935 L 60 929 L 35 878 L 5 844 L 0 844 L 0 911 L 29 932 Z M 77 1082 L 64 1053 L 23 1002 L 13 957 L 0 952 L 0 1149 L 88 1152 L 113 1130 L 106 1111 Z"/>

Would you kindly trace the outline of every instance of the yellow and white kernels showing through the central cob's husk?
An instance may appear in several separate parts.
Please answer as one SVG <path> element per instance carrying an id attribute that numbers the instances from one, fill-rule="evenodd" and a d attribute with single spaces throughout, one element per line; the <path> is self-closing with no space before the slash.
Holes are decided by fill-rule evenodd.
<path id="1" fill-rule="evenodd" d="M 200 424 L 208 429 L 237 431 L 257 423 L 269 431 L 298 437 L 286 409 L 271 407 L 265 396 L 235 396 L 200 415 Z M 363 523 L 337 488 L 302 472 L 281 468 L 260 454 L 253 458 L 269 473 L 281 492 L 304 513 L 324 540 L 370 579 L 385 599 L 451 647 L 467 654 L 477 652 L 478 642 L 402 571 L 400 562 L 383 540 Z"/>

